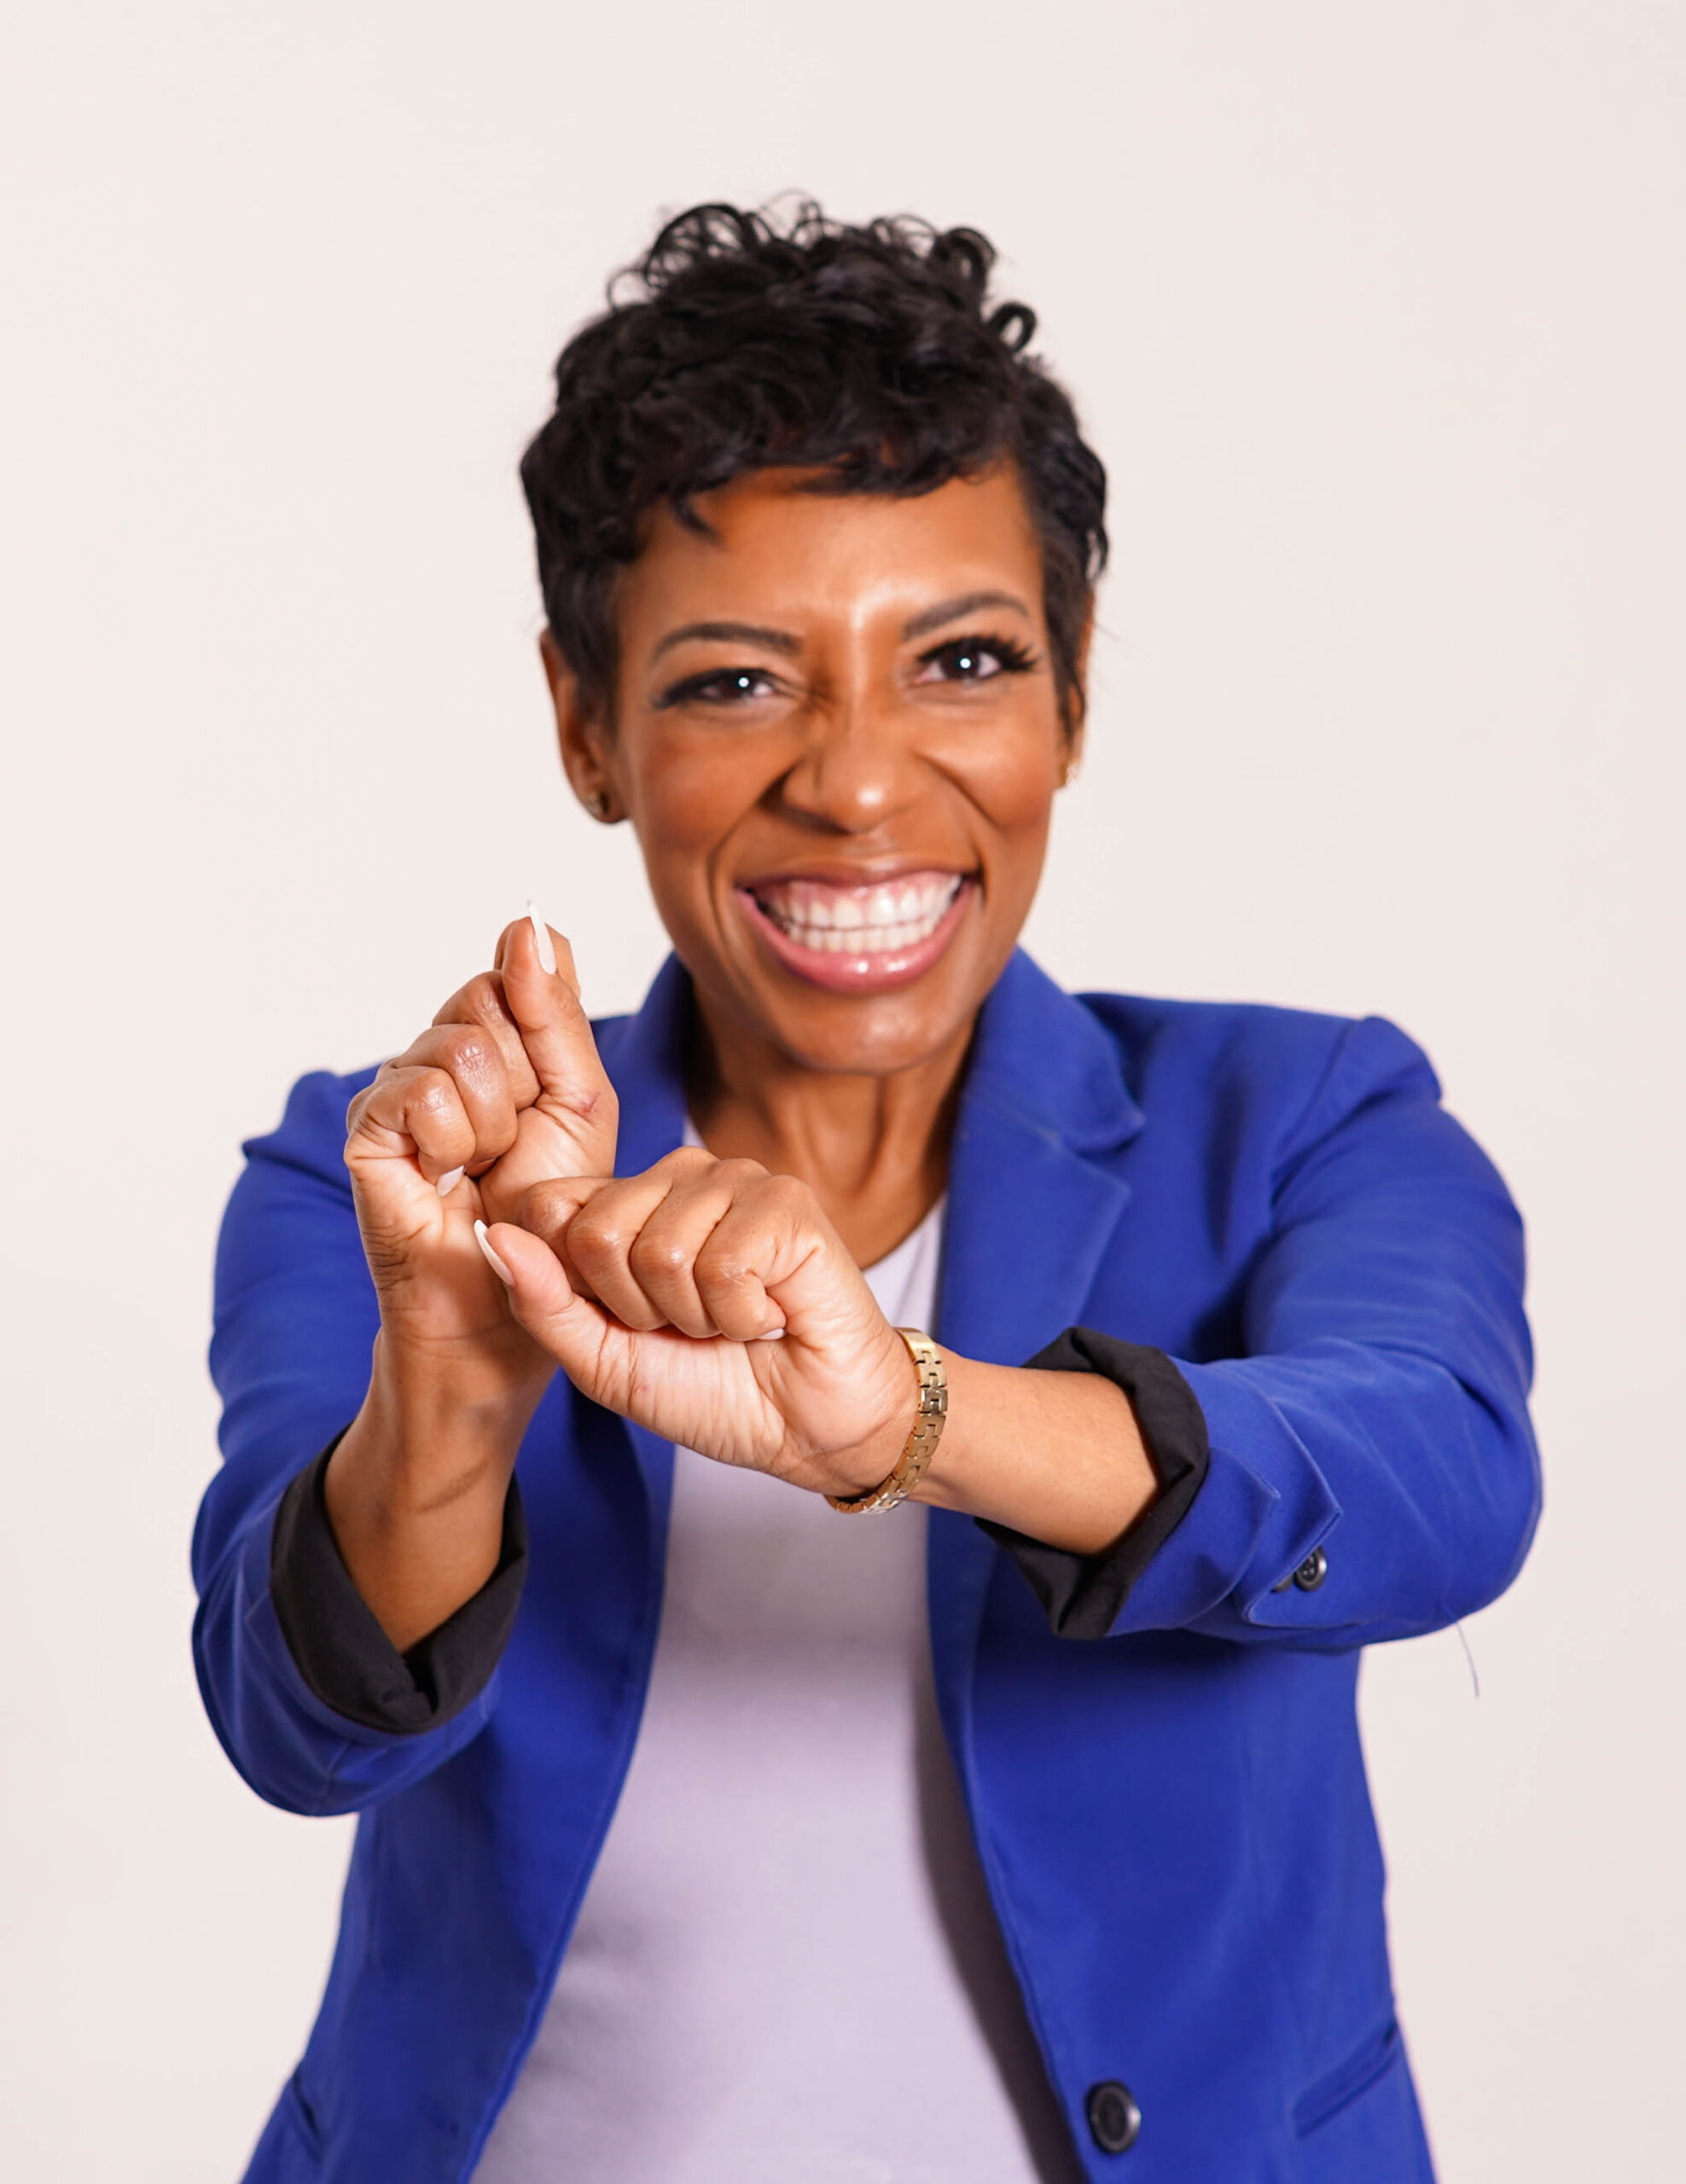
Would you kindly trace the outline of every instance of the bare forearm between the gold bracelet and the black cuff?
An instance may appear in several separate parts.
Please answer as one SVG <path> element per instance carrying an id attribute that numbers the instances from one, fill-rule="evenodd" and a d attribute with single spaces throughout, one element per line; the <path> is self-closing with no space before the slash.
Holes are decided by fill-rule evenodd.
<path id="1" fill-rule="evenodd" d="M 948 1422 L 915 1500 L 1101 1555 L 1157 1479 L 1123 1389 L 1099 1374 L 978 1365 L 943 1350 Z"/>

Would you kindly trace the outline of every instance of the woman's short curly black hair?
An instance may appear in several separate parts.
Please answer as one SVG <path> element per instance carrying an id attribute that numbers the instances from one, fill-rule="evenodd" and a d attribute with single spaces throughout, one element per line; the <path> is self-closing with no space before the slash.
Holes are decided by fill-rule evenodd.
<path id="1" fill-rule="evenodd" d="M 616 686 L 614 587 L 666 502 L 771 465 L 819 491 L 926 494 L 1011 461 L 1042 539 L 1044 612 L 1068 727 L 1105 563 L 1107 474 L 1070 395 L 1026 356 L 1035 312 L 992 304 L 974 227 L 850 227 L 692 205 L 609 282 L 557 358 L 557 406 L 522 456 L 550 636 L 587 710 Z"/>

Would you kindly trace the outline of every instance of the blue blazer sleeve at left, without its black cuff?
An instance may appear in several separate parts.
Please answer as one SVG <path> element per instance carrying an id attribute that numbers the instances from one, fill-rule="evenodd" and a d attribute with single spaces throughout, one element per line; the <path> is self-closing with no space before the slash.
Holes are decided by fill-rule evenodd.
<path id="1" fill-rule="evenodd" d="M 240 1776 L 290 1813 L 352 1813 L 430 1773 L 491 1714 L 496 1673 L 435 1730 L 378 1728 L 304 1679 L 271 1592 L 293 1481 L 363 1404 L 380 1326 L 343 1164 L 365 1077 L 304 1077 L 251 1140 L 216 1247 L 212 1378 L 223 1468 L 194 1527 L 194 1669 Z"/>

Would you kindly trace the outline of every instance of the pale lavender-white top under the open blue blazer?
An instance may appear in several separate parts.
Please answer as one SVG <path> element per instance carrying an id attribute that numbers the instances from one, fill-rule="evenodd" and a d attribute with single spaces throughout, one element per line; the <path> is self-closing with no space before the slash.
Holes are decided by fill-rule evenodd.
<path id="1" fill-rule="evenodd" d="M 930 1324 L 939 1249 L 941 1208 L 867 1269 L 895 1326 Z M 1072 2173 L 937 1721 L 924 1555 L 917 1503 L 845 1518 L 675 1450 L 638 1745 L 478 2184 Z"/>

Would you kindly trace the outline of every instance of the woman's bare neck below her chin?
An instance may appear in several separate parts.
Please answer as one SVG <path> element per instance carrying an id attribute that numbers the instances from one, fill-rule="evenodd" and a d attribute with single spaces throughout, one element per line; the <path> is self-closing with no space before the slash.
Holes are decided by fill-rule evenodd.
<path id="1" fill-rule="evenodd" d="M 697 994 L 690 1118 L 719 1160 L 758 1160 L 819 1199 L 856 1265 L 891 1251 L 943 1195 L 972 1024 L 889 1075 L 815 1070 L 716 1024 Z"/>

